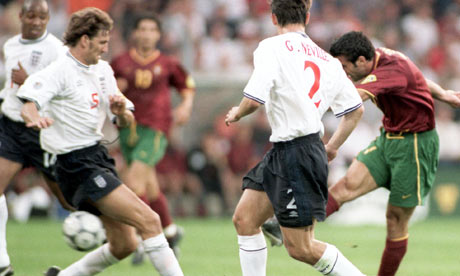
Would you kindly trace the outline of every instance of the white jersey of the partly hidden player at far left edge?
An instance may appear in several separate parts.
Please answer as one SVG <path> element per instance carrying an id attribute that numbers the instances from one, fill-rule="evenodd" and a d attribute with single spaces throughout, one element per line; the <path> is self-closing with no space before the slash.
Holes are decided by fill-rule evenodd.
<path id="1" fill-rule="evenodd" d="M 16 122 L 24 120 L 21 117 L 22 102 L 16 97 L 19 86 L 11 80 L 12 70 L 19 69 L 20 62 L 30 76 L 63 55 L 66 49 L 59 39 L 48 32 L 35 40 L 23 39 L 21 36 L 19 34 L 8 39 L 3 46 L 6 78 L 5 87 L 0 92 L 4 98 L 3 114 Z"/>

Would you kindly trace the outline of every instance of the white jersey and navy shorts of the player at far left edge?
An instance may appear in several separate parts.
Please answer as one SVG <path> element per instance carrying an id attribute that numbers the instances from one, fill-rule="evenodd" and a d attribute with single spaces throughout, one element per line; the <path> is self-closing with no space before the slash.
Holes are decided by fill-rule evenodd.
<path id="1" fill-rule="evenodd" d="M 35 40 L 23 39 L 19 34 L 3 46 L 6 77 L 0 92 L 4 98 L 3 117 L 0 118 L 0 156 L 24 167 L 34 166 L 52 180 L 55 157 L 41 149 L 39 132 L 24 125 L 20 115 L 23 104 L 16 96 L 19 86 L 11 80 L 11 73 L 13 69 L 19 69 L 18 63 L 21 63 L 31 75 L 56 60 L 64 49 L 62 42 L 47 32 Z"/>

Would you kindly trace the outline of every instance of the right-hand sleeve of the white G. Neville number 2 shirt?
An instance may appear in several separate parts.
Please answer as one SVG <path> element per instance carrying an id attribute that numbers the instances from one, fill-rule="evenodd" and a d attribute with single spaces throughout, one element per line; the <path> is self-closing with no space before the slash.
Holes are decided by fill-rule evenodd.
<path id="1" fill-rule="evenodd" d="M 330 99 L 332 112 L 336 117 L 341 117 L 349 112 L 358 109 L 363 101 L 359 96 L 358 91 L 347 77 L 342 68 L 338 70 L 338 87 L 337 94 L 333 99 Z"/>

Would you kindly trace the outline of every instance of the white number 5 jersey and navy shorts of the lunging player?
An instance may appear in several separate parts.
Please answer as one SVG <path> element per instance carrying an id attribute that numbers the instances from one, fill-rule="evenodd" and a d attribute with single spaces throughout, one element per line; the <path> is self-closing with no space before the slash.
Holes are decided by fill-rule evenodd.
<path id="1" fill-rule="evenodd" d="M 70 52 L 30 76 L 18 97 L 32 101 L 54 123 L 40 132 L 42 148 L 58 155 L 57 180 L 73 206 L 97 212 L 87 201 L 97 201 L 121 181 L 104 146 L 102 126 L 110 111 L 109 96 L 119 94 L 112 68 L 105 61 L 87 66 Z M 126 99 L 127 108 L 133 104 Z"/>

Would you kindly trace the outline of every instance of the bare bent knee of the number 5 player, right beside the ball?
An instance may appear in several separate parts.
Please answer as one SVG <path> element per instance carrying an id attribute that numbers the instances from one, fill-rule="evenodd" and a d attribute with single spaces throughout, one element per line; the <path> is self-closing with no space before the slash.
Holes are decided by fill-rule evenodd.
<path id="1" fill-rule="evenodd" d="M 137 248 L 138 241 L 134 227 L 104 215 L 100 216 L 100 219 L 104 224 L 110 251 L 117 258 L 124 258 Z"/>

